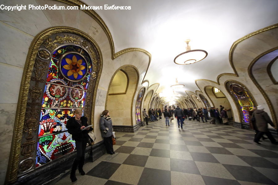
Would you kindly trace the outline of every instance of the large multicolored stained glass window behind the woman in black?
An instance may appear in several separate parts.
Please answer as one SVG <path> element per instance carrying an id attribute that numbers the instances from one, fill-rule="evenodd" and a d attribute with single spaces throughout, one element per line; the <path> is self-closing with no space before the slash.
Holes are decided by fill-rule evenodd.
<path id="1" fill-rule="evenodd" d="M 86 51 L 87 47 L 87 41 L 83 40 L 79 45 L 58 46 L 50 55 L 40 113 L 36 167 L 75 149 L 66 122 L 74 116 L 74 109 L 84 109 L 89 81 L 96 77 L 96 63 Z M 94 51 L 90 49 L 92 54 Z"/>

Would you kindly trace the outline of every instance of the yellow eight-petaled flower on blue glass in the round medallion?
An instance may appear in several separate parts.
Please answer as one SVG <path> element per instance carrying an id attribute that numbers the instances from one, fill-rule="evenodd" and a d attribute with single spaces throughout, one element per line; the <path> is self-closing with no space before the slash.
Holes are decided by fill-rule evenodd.
<path id="1" fill-rule="evenodd" d="M 66 62 L 69 65 L 64 65 L 63 68 L 69 70 L 68 71 L 68 76 L 71 76 L 72 74 L 74 75 L 74 78 L 76 79 L 79 75 L 83 75 L 83 72 L 81 70 L 85 69 L 85 66 L 81 65 L 82 64 L 82 59 L 77 61 L 76 56 L 74 55 L 72 57 L 72 60 L 69 58 L 65 58 Z"/>

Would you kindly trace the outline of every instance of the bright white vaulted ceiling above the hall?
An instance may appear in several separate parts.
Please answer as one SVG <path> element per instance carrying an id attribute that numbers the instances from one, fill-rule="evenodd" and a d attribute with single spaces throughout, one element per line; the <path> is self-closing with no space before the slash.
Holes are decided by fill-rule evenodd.
<path id="1" fill-rule="evenodd" d="M 95 10 L 109 28 L 115 53 L 139 47 L 152 55 L 144 80 L 159 83 L 158 92 L 178 78 L 178 91 L 199 90 L 196 79 L 216 81 L 221 73 L 233 73 L 229 51 L 237 39 L 278 23 L 278 0 L 83 0 L 90 6 L 131 6 L 131 10 Z M 178 65 L 176 55 L 203 49 L 208 56 L 195 64 Z"/>

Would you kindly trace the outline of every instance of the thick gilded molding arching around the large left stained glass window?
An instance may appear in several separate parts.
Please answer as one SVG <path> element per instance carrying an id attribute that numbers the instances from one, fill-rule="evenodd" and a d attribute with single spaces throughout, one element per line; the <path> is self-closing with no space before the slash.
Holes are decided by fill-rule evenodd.
<path id="1" fill-rule="evenodd" d="M 75 29 L 71 27 L 51 27 L 48 28 L 38 35 L 35 36 L 33 39 L 30 49 L 27 54 L 24 70 L 23 70 L 23 76 L 22 81 L 20 85 L 20 91 L 19 91 L 19 100 L 17 105 L 17 111 L 16 111 L 16 117 L 15 117 L 15 127 L 14 127 L 14 134 L 13 139 L 11 143 L 11 152 L 10 152 L 10 158 L 9 158 L 9 165 L 8 170 L 6 174 L 6 182 L 11 183 L 14 182 L 18 178 L 18 169 L 19 169 L 19 156 L 20 156 L 20 150 L 21 150 L 21 141 L 23 137 L 23 128 L 24 128 L 24 118 L 26 114 L 26 108 L 27 108 L 27 99 L 29 94 L 29 88 L 30 88 L 30 82 L 32 77 L 32 72 L 34 69 L 35 61 L 36 61 L 36 55 L 39 51 L 39 47 L 44 43 L 44 41 L 49 38 L 51 35 L 58 34 L 58 33 L 71 33 L 75 35 L 79 35 L 86 40 L 88 40 L 90 43 L 92 43 L 97 51 L 97 55 L 99 56 L 99 69 L 98 69 L 98 75 L 95 79 L 95 86 L 92 90 L 92 99 L 95 100 L 96 98 L 96 91 L 99 84 L 100 75 L 102 72 L 102 54 L 101 51 L 97 45 L 97 43 L 92 39 L 89 35 L 86 33 Z M 64 42 L 64 41 L 63 41 Z M 54 41 L 53 41 L 54 43 Z M 91 123 L 94 124 L 94 112 L 95 112 L 95 101 L 92 102 L 91 105 Z M 29 130 L 30 131 L 30 130 Z"/>

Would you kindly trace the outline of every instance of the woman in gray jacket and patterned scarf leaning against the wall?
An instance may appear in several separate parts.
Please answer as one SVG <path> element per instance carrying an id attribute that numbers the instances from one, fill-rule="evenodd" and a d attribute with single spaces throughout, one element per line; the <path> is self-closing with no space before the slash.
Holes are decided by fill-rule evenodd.
<path id="1" fill-rule="evenodd" d="M 115 154 L 113 150 L 113 143 L 112 143 L 112 120 L 111 117 L 109 116 L 109 111 L 104 110 L 102 114 L 100 115 L 100 120 L 99 120 L 99 127 L 101 130 L 101 135 L 104 139 L 104 145 L 106 148 L 106 151 L 108 154 Z"/>

